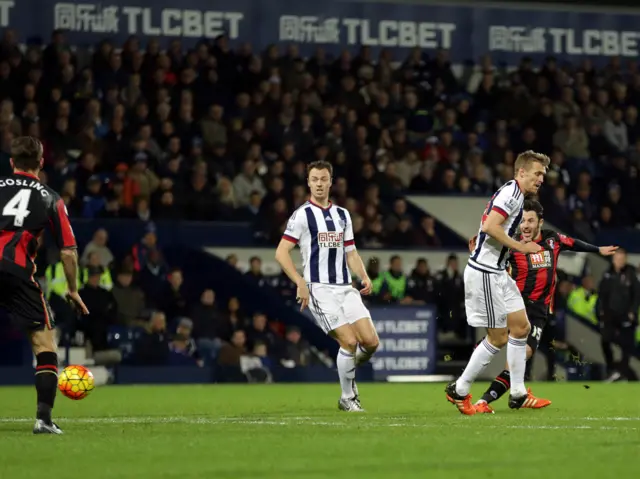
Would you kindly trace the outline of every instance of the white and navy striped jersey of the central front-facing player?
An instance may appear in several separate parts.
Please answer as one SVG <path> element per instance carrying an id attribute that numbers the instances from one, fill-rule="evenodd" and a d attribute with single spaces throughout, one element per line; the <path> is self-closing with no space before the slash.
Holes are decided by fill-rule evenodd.
<path id="1" fill-rule="evenodd" d="M 282 237 L 300 247 L 307 283 L 351 284 L 347 252 L 356 246 L 347 210 L 307 201 L 293 212 Z"/>

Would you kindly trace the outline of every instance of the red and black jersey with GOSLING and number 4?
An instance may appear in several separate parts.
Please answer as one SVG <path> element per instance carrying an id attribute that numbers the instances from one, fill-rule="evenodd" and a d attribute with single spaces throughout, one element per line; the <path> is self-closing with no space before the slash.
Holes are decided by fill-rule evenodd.
<path id="1" fill-rule="evenodd" d="M 0 177 L 0 270 L 33 281 L 45 228 L 59 249 L 76 247 L 67 208 L 55 191 L 28 173 Z"/>

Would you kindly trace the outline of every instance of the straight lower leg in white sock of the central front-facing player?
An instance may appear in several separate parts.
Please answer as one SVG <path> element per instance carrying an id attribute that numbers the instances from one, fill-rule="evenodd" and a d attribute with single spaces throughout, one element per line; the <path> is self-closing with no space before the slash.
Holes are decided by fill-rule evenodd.
<path id="1" fill-rule="evenodd" d="M 360 401 L 353 390 L 356 378 L 356 349 L 358 347 L 355 331 L 350 324 L 345 324 L 331 331 L 331 336 L 340 344 L 336 358 L 340 388 L 342 389 L 338 408 L 348 412 L 362 412 Z"/>

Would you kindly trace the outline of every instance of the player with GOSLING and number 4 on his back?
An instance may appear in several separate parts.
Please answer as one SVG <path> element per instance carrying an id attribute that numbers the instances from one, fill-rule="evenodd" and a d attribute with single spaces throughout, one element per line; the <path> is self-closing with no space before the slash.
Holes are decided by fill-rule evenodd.
<path id="1" fill-rule="evenodd" d="M 60 196 L 40 183 L 42 144 L 33 137 L 11 143 L 13 175 L 0 177 L 0 306 L 29 335 L 36 356 L 35 434 L 62 434 L 51 420 L 58 386 L 58 355 L 51 309 L 36 271 L 38 239 L 53 234 L 69 284 L 69 300 L 88 314 L 77 290 L 78 254 L 67 208 Z"/>

